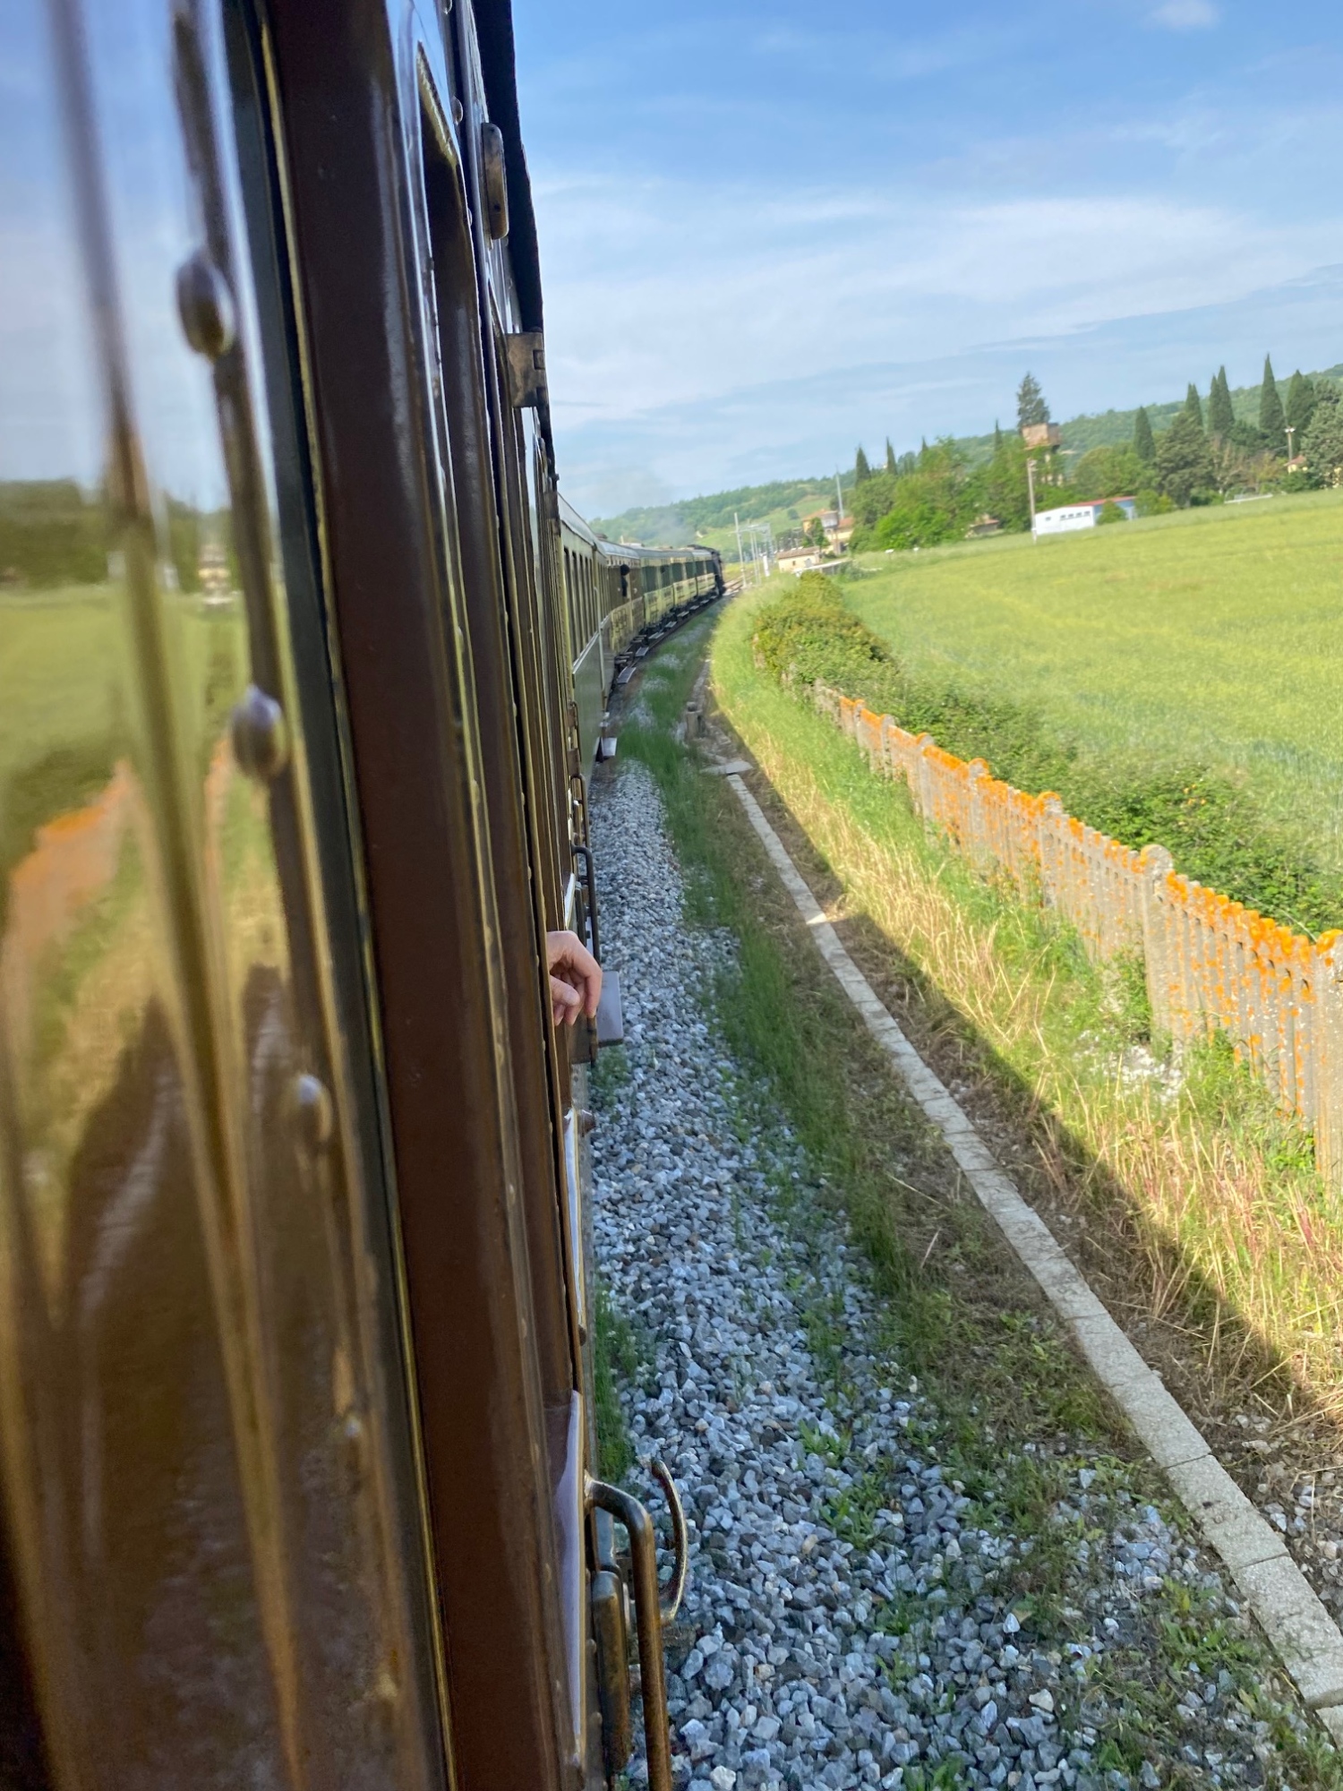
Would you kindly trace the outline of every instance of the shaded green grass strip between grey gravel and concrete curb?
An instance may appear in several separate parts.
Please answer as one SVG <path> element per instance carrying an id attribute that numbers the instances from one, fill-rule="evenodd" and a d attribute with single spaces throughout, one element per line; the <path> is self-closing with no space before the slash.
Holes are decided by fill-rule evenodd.
<path id="1" fill-rule="evenodd" d="M 723 625 L 731 623 L 731 613 Z M 691 924 L 727 928 L 734 967 L 713 999 L 714 1024 L 756 1084 L 740 1087 L 738 1123 L 757 1132 L 788 1116 L 817 1184 L 779 1189 L 806 1225 L 842 1205 L 888 1295 L 890 1347 L 919 1375 L 937 1375 L 962 1440 L 978 1449 L 981 1410 L 1035 1435 L 1108 1435 L 1092 1379 L 1044 1318 L 1024 1279 L 1003 1281 L 1003 1254 L 978 1202 L 960 1186 L 933 1130 L 854 1026 L 852 1010 L 815 955 L 791 901 L 761 870 L 759 845 L 722 779 L 702 776 L 672 738 L 707 643 L 707 623 L 659 656 L 641 722 L 621 729 L 621 756 L 654 774 L 686 883 Z M 808 1306 L 817 1356 L 838 1359 L 825 1302 Z M 971 1408 L 976 1408 L 971 1411 Z M 992 1470 L 994 1420 L 988 1418 Z M 971 1472 L 967 1463 L 967 1472 Z"/>

